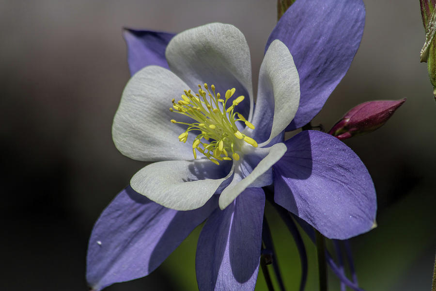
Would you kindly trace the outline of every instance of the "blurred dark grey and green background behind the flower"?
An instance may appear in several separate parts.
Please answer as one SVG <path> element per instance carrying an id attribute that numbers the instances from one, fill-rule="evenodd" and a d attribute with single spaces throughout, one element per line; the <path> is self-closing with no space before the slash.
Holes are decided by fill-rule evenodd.
<path id="1" fill-rule="evenodd" d="M 362 288 L 430 290 L 436 245 L 436 104 L 419 1 L 364 0 L 366 26 L 348 74 L 314 124 L 328 130 L 358 103 L 406 103 L 377 131 L 345 141 L 371 173 L 378 227 L 351 240 Z M 142 166 L 111 140 L 129 79 L 122 27 L 180 32 L 234 24 L 251 49 L 254 87 L 277 19 L 273 0 L 0 0 L 0 290 L 86 290 L 93 223 Z M 292 237 L 267 207 L 282 275 L 301 275 Z M 117 290 L 196 290 L 200 228 L 146 278 Z M 305 238 L 307 239 L 307 238 Z M 316 251 L 307 242 L 317 290 Z M 337 280 L 330 276 L 332 290 Z M 257 290 L 265 290 L 259 273 Z"/>

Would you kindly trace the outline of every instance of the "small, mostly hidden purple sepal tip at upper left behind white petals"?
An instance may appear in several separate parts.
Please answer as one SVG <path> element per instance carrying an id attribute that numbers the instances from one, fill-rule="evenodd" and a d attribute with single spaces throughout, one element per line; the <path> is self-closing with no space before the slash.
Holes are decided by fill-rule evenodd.
<path id="1" fill-rule="evenodd" d="M 130 74 L 133 76 L 147 65 L 158 65 L 168 69 L 165 49 L 174 35 L 168 32 L 124 29 Z"/>

